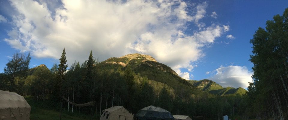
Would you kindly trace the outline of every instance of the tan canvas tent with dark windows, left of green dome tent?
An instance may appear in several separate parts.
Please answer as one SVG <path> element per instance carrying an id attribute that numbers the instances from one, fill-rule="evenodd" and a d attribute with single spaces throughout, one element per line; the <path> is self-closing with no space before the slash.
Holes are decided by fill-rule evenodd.
<path id="1" fill-rule="evenodd" d="M 105 109 L 101 113 L 100 120 L 133 120 L 134 115 L 122 106 L 114 106 Z"/>

